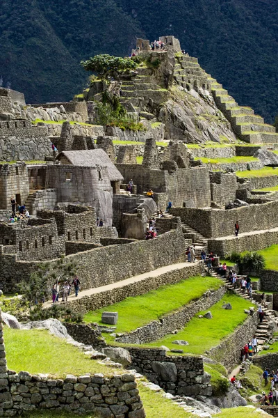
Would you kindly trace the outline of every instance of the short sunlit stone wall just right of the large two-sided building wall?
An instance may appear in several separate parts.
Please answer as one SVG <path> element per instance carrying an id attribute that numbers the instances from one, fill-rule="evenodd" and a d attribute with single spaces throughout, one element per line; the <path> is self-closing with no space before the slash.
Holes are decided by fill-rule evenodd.
<path id="1" fill-rule="evenodd" d="M 209 173 L 211 181 L 211 200 L 220 206 L 225 206 L 229 201 L 236 199 L 236 173 L 222 173 L 216 171 Z"/>

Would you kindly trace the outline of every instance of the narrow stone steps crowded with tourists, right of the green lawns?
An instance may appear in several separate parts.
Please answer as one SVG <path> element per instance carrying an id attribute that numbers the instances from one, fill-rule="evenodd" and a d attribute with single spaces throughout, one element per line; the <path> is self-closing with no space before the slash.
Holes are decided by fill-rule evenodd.
<path id="1" fill-rule="evenodd" d="M 250 300 L 247 292 L 243 293 L 238 287 L 234 289 L 234 286 L 230 284 L 228 279 L 224 279 L 214 270 L 211 272 L 208 272 L 208 274 L 210 274 L 213 277 L 218 277 L 222 279 L 227 284 L 227 288 L 229 289 L 229 291 L 231 291 L 232 293 L 235 293 L 236 295 L 241 296 L 246 300 Z M 254 300 L 252 300 L 252 303 L 256 304 L 259 307 L 259 304 L 255 302 Z M 267 342 L 272 336 L 270 321 L 274 320 L 275 316 L 268 309 L 268 302 L 266 302 L 266 305 L 267 306 L 263 309 L 263 313 L 264 313 L 263 322 L 258 324 L 257 330 L 256 330 L 256 338 L 258 339 L 258 346 L 263 346 L 263 344 Z M 260 349 L 261 347 L 258 347 L 258 348 Z"/>

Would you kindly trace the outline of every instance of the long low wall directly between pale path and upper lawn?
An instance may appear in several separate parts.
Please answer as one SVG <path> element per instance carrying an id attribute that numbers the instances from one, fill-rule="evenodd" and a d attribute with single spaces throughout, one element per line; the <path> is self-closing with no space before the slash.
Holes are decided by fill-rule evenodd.
<path id="1" fill-rule="evenodd" d="M 81 299 L 74 299 L 67 302 L 72 311 L 85 314 L 88 311 L 95 311 L 110 304 L 122 302 L 126 297 L 145 295 L 149 291 L 154 291 L 165 284 L 175 284 L 188 277 L 194 277 L 201 273 L 202 262 L 192 263 L 184 268 L 177 268 L 156 277 L 146 277 L 138 282 L 126 284 L 109 291 L 96 293 L 95 295 L 83 296 Z"/>

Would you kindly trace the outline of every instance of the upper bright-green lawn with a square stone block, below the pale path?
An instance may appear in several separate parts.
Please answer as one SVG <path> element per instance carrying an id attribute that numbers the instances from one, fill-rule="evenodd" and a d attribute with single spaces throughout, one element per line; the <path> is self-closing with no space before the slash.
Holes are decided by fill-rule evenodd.
<path id="1" fill-rule="evenodd" d="M 145 295 L 126 297 L 117 304 L 88 312 L 84 320 L 88 323 L 101 323 L 102 312 L 117 311 L 117 332 L 130 332 L 199 299 L 208 289 L 218 289 L 220 286 L 222 281 L 215 277 L 190 277 L 177 284 L 161 286 Z"/>

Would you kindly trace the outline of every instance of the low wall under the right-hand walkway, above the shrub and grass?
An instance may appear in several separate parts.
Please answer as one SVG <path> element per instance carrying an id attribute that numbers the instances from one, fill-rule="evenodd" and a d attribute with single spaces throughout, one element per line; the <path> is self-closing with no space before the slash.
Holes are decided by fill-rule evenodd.
<path id="1" fill-rule="evenodd" d="M 254 232 L 250 235 L 238 235 L 238 237 L 216 238 L 208 240 L 208 251 L 213 251 L 213 254 L 218 256 L 226 256 L 232 251 L 257 251 L 277 244 L 278 242 L 278 228 L 270 229 L 268 231 Z"/>

